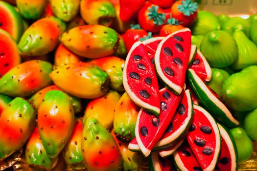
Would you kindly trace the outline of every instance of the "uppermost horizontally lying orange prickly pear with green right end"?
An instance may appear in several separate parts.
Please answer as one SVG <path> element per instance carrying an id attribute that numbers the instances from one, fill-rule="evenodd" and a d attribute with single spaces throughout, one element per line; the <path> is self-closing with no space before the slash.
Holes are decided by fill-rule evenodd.
<path id="1" fill-rule="evenodd" d="M 103 25 L 83 25 L 66 31 L 61 42 L 75 54 L 95 59 L 110 56 L 116 51 L 118 34 Z"/>

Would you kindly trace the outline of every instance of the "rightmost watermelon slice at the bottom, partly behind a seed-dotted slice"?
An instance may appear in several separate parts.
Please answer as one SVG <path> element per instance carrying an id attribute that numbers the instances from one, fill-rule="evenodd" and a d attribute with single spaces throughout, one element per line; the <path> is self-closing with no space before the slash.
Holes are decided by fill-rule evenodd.
<path id="1" fill-rule="evenodd" d="M 219 171 L 237 171 L 238 154 L 234 138 L 228 128 L 218 124 L 221 135 L 221 150 L 217 163 Z"/>

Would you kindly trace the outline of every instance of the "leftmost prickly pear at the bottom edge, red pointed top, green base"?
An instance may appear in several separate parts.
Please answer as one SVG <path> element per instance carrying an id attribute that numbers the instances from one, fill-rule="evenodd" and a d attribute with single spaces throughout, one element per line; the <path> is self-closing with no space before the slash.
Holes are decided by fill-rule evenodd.
<path id="1" fill-rule="evenodd" d="M 58 157 L 52 159 L 47 156 L 38 133 L 38 127 L 32 132 L 25 149 L 25 159 L 31 169 L 50 171 L 58 162 Z"/>

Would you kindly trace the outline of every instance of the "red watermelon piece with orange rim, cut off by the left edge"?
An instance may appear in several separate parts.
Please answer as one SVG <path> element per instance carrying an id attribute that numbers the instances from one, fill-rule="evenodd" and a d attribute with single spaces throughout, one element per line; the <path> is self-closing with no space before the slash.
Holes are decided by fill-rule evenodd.
<path id="1" fill-rule="evenodd" d="M 21 63 L 19 49 L 11 35 L 0 29 L 0 78 Z"/>

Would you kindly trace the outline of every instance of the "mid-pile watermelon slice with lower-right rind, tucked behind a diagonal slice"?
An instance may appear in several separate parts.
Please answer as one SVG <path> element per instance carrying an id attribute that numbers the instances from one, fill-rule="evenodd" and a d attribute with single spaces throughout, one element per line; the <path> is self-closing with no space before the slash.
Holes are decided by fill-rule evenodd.
<path id="1" fill-rule="evenodd" d="M 154 150 L 170 147 L 180 141 L 187 133 L 193 119 L 193 103 L 189 90 L 184 96 L 173 116 L 169 126 L 166 128 L 162 138 L 156 143 Z"/>

